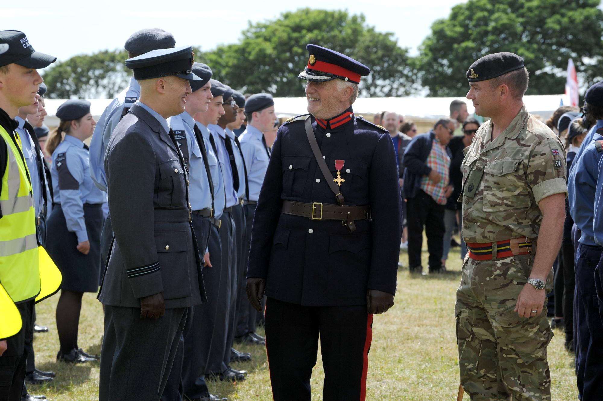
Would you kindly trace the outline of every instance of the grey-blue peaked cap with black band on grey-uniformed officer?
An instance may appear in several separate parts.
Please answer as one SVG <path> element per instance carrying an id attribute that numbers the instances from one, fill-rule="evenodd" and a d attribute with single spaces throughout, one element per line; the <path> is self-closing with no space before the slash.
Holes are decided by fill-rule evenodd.
<path id="1" fill-rule="evenodd" d="M 162 78 L 174 75 L 189 81 L 200 81 L 201 78 L 192 73 L 195 54 L 192 46 L 181 46 L 174 49 L 157 49 L 125 60 L 125 66 L 134 73 L 134 79 Z"/>

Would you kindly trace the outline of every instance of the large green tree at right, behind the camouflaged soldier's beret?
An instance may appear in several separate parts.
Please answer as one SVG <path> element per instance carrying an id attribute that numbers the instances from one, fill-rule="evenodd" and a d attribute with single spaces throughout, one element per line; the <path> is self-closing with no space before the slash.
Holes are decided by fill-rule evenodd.
<path id="1" fill-rule="evenodd" d="M 528 95 L 561 93 L 573 59 L 583 87 L 603 76 L 599 0 L 469 0 L 435 21 L 414 65 L 429 96 L 463 96 L 473 61 L 514 52 L 530 72 Z"/>

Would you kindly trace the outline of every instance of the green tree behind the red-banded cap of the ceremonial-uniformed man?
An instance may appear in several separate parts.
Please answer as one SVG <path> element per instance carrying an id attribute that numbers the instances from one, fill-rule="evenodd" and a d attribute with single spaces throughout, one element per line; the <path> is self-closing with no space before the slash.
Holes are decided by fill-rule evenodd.
<path id="1" fill-rule="evenodd" d="M 371 69 L 362 78 L 361 96 L 403 96 L 415 89 L 406 49 L 392 33 L 379 33 L 363 14 L 301 8 L 279 18 L 249 23 L 240 43 L 218 46 L 201 55 L 216 79 L 245 92 L 304 96 L 297 78 L 308 64 L 306 45 L 315 43 L 342 52 Z"/>

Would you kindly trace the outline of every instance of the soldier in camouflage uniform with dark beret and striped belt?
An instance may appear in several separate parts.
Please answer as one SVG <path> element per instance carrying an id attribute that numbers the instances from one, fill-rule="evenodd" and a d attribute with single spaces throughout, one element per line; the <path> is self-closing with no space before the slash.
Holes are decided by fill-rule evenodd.
<path id="1" fill-rule="evenodd" d="M 473 401 L 551 400 L 545 291 L 565 215 L 564 147 L 523 105 L 522 58 L 487 55 L 467 78 L 467 99 L 491 120 L 461 166 L 469 250 L 455 305 L 461 385 Z"/>

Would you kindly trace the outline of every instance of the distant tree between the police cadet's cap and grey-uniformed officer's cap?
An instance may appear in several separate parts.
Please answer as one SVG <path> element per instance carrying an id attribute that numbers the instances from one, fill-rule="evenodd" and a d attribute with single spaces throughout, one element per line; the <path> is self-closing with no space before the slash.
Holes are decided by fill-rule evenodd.
<path id="1" fill-rule="evenodd" d="M 125 50 L 105 50 L 55 63 L 43 75 L 48 85 L 48 97 L 114 98 L 127 85 L 131 75 L 131 71 L 125 67 L 127 58 Z"/>

